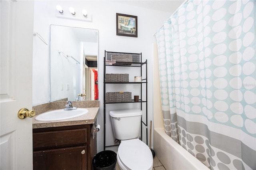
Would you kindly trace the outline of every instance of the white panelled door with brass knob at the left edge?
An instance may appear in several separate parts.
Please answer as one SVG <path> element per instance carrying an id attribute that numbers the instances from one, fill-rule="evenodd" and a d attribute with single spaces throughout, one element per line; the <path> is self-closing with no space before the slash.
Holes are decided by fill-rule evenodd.
<path id="1" fill-rule="evenodd" d="M 0 1 L 0 169 L 32 170 L 33 1 Z"/>

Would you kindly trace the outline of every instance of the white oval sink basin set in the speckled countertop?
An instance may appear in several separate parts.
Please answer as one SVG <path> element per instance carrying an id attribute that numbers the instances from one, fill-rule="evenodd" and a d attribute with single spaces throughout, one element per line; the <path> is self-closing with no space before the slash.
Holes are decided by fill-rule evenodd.
<path id="1" fill-rule="evenodd" d="M 59 121 L 64 119 L 70 119 L 78 116 L 85 115 L 88 112 L 87 109 L 78 108 L 76 110 L 64 111 L 64 109 L 54 110 L 42 113 L 36 116 L 37 121 Z"/>

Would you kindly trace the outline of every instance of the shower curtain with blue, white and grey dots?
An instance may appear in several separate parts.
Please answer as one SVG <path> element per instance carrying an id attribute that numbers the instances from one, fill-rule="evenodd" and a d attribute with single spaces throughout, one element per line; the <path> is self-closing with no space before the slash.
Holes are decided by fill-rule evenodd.
<path id="1" fill-rule="evenodd" d="M 256 170 L 256 1 L 188 0 L 156 33 L 166 133 L 210 169 Z"/>

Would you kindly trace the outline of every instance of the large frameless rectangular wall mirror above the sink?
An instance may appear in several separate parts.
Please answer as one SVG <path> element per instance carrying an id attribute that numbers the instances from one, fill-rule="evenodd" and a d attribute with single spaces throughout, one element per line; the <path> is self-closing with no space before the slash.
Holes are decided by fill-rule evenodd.
<path id="1" fill-rule="evenodd" d="M 98 100 L 98 30 L 50 26 L 50 101 Z"/>

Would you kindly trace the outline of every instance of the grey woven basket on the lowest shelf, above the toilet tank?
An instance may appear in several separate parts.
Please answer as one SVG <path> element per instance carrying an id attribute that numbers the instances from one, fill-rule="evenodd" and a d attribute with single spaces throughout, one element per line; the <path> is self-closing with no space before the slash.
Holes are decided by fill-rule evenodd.
<path id="1" fill-rule="evenodd" d="M 106 102 L 107 103 L 117 103 L 117 102 L 131 102 L 132 92 L 107 92 Z"/>

